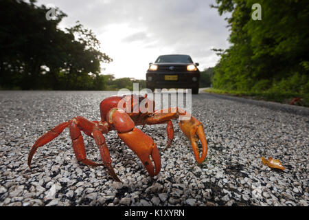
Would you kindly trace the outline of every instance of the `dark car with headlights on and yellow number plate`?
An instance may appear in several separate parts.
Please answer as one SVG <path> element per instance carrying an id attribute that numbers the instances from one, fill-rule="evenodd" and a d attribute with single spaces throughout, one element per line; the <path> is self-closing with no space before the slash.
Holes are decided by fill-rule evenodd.
<path id="1" fill-rule="evenodd" d="M 161 55 L 155 63 L 149 63 L 146 87 L 152 91 L 163 88 L 192 89 L 192 94 L 198 94 L 200 71 L 197 67 L 198 63 L 193 63 L 189 55 Z"/>

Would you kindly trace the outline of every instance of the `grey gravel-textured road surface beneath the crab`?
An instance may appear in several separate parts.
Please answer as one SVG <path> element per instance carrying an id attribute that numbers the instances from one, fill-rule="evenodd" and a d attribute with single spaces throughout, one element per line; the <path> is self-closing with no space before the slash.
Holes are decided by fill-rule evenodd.
<path id="1" fill-rule="evenodd" d="M 208 155 L 195 162 L 176 121 L 172 147 L 165 125 L 146 126 L 161 151 L 161 172 L 150 178 L 138 157 L 111 131 L 106 135 L 122 183 L 103 166 L 80 164 L 68 129 L 38 148 L 36 139 L 80 115 L 99 120 L 100 101 L 111 91 L 0 91 L 0 206 L 308 206 L 309 109 L 285 104 L 198 94 L 192 115 L 203 122 Z M 84 136 L 87 157 L 98 147 Z M 285 170 L 262 164 L 279 159 Z"/>

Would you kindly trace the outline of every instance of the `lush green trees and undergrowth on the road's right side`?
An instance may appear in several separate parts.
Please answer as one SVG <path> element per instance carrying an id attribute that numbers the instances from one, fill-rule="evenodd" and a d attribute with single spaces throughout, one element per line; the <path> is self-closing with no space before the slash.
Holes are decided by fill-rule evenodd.
<path id="1" fill-rule="evenodd" d="M 227 19 L 231 47 L 220 52 L 214 67 L 214 88 L 268 94 L 308 96 L 309 5 L 296 0 L 216 0 Z M 251 19 L 254 3 L 262 20 Z"/>

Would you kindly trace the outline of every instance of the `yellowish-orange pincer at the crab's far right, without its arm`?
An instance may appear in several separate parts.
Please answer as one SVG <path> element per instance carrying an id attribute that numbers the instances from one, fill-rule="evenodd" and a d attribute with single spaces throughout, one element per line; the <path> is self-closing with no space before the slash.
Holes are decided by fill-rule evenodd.
<path id="1" fill-rule="evenodd" d="M 207 140 L 204 133 L 203 124 L 199 120 L 191 116 L 190 120 L 180 120 L 179 126 L 181 128 L 181 131 L 183 131 L 183 133 L 189 138 L 192 144 L 196 162 L 198 162 L 198 164 L 201 164 L 207 156 Z M 198 140 L 201 141 L 203 148 L 201 157 L 198 151 Z"/>

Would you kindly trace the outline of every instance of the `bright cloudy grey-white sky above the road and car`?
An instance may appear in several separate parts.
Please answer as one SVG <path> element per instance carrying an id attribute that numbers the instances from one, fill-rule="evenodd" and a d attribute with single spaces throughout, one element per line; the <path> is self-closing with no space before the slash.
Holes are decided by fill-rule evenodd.
<path id="1" fill-rule="evenodd" d="M 80 21 L 113 58 L 102 74 L 146 79 L 149 63 L 162 54 L 188 54 L 198 69 L 214 67 L 219 57 L 211 48 L 229 47 L 229 30 L 214 0 L 38 0 L 52 4 L 67 17 L 59 28 Z"/>

